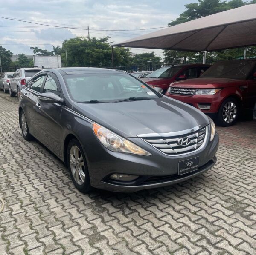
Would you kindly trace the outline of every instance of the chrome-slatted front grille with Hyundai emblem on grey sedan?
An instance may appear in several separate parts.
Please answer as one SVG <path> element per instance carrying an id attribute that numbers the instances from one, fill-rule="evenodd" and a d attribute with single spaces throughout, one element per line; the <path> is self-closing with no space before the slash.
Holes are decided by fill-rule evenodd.
<path id="1" fill-rule="evenodd" d="M 154 146 L 167 155 L 179 155 L 183 153 L 193 152 L 200 148 L 204 143 L 206 137 L 207 127 L 199 129 L 198 131 L 188 133 L 186 135 L 163 137 L 163 136 L 152 136 L 143 137 L 143 140 Z M 182 138 L 189 138 L 190 142 L 186 145 L 180 144 Z M 180 141 L 180 142 L 179 142 Z"/>

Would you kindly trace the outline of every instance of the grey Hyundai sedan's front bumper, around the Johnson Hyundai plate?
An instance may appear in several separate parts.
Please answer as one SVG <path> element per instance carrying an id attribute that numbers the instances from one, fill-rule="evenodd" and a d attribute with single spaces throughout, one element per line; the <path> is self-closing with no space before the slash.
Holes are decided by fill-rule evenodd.
<path id="1" fill-rule="evenodd" d="M 151 155 L 141 156 L 111 152 L 98 141 L 89 146 L 83 146 L 91 186 L 113 192 L 136 192 L 185 181 L 206 172 L 216 163 L 217 133 L 211 142 L 208 138 L 205 146 L 199 151 L 177 156 L 165 155 L 140 138 L 129 138 L 129 140 L 146 149 Z M 178 175 L 179 161 L 194 157 L 200 159 L 198 170 L 185 175 Z M 108 177 L 113 173 L 139 175 L 140 181 L 111 181 Z"/>

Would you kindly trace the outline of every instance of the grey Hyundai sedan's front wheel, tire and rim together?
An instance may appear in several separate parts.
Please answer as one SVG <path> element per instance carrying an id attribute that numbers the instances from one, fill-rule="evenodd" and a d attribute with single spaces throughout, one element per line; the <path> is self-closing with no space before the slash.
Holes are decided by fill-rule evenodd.
<path id="1" fill-rule="evenodd" d="M 84 152 L 78 140 L 70 140 L 67 146 L 67 166 L 70 177 L 80 192 L 88 192 L 91 189 L 90 177 Z"/>

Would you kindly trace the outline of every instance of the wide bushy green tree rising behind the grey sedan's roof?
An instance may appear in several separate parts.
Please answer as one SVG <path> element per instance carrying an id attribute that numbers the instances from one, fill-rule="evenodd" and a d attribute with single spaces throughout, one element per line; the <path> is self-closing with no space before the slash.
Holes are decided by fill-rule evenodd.
<path id="1" fill-rule="evenodd" d="M 112 66 L 109 37 L 75 37 L 64 40 L 61 54 L 63 66 L 66 66 L 66 50 L 68 66 Z M 114 48 L 114 65 L 127 65 L 129 56 L 129 49 Z"/>

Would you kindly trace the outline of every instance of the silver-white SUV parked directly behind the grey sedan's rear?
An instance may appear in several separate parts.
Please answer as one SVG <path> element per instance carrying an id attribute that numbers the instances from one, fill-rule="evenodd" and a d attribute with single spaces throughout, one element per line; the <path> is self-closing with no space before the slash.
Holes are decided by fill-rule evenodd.
<path id="1" fill-rule="evenodd" d="M 15 71 L 9 85 L 9 94 L 20 99 L 20 90 L 26 85 L 29 79 L 42 69 L 38 68 L 20 68 Z"/>

